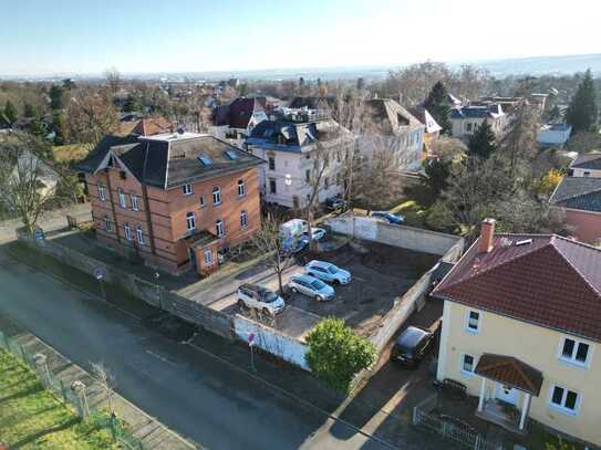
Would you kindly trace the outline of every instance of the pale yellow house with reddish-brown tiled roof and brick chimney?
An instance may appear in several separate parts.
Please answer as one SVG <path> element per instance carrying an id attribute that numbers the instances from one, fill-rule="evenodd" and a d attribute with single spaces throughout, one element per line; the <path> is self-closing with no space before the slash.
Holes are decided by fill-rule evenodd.
<path id="1" fill-rule="evenodd" d="M 433 295 L 445 301 L 437 378 L 477 396 L 478 417 L 601 444 L 601 250 L 495 234 L 486 219 Z"/>

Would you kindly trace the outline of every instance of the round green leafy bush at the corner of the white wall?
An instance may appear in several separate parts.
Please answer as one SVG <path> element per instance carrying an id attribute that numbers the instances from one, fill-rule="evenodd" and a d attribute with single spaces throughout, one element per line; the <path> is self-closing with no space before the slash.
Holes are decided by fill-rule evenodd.
<path id="1" fill-rule="evenodd" d="M 307 363 L 311 370 L 331 388 L 349 393 L 356 374 L 376 359 L 373 344 L 358 336 L 341 318 L 325 318 L 307 336 Z"/>

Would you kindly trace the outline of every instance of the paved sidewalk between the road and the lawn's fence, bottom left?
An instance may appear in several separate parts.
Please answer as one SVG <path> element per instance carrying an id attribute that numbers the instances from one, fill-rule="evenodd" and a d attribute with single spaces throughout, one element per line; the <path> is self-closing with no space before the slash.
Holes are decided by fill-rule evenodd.
<path id="1" fill-rule="evenodd" d="M 84 383 L 91 409 L 108 406 L 108 399 L 100 384 L 81 367 L 1 314 L 0 329 L 7 336 L 15 339 L 27 352 L 45 355 L 50 371 L 63 381 L 64 386 L 71 386 L 75 380 Z M 191 450 L 198 448 L 197 444 L 169 430 L 118 394 L 112 396 L 111 402 L 117 417 L 125 420 L 132 427 L 134 436 L 142 440 L 144 449 Z"/>

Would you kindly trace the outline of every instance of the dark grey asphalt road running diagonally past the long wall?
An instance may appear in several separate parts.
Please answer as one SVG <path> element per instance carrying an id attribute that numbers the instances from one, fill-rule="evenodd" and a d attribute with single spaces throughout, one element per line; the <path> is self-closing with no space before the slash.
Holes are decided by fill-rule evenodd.
<path id="1" fill-rule="evenodd" d="M 245 373 L 166 339 L 114 307 L 0 250 L 0 311 L 76 364 L 103 360 L 117 391 L 210 449 L 385 449 Z M 336 427 L 346 427 L 340 422 Z"/>

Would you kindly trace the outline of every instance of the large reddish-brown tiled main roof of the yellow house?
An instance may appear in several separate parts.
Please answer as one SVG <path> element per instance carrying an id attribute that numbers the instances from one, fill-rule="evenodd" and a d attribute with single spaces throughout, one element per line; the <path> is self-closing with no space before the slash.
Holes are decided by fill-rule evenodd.
<path id="1" fill-rule="evenodd" d="M 476 241 L 433 294 L 601 342 L 600 268 L 601 250 L 580 242 L 496 234 L 490 252 Z"/>

